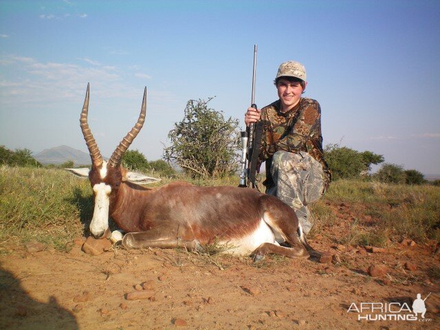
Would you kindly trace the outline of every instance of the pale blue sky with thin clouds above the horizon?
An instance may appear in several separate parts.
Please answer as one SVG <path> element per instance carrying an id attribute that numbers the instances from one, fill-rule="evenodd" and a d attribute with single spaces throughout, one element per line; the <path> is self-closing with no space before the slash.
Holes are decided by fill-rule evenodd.
<path id="1" fill-rule="evenodd" d="M 277 99 L 278 66 L 307 70 L 324 145 L 372 151 L 440 175 L 440 1 L 0 0 L 0 144 L 87 152 L 79 118 L 109 157 L 139 115 L 131 145 L 160 159 L 188 100 L 244 129 L 254 45 L 255 101 Z"/>

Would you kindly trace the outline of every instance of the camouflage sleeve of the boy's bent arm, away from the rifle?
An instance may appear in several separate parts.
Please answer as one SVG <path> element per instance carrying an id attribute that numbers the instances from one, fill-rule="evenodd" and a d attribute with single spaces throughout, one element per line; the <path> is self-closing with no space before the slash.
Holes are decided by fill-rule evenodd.
<path id="1" fill-rule="evenodd" d="M 300 109 L 300 115 L 290 131 L 274 143 L 276 151 L 284 150 L 291 153 L 296 151 L 309 151 L 310 147 L 307 142 L 313 142 L 322 151 L 322 135 L 321 135 L 321 108 L 317 101 L 309 100 L 305 107 Z M 313 146 L 311 147 L 313 149 Z M 313 150 L 310 150 L 314 153 Z M 317 150 L 318 151 L 318 150 Z M 316 151 L 315 151 L 316 152 Z"/>

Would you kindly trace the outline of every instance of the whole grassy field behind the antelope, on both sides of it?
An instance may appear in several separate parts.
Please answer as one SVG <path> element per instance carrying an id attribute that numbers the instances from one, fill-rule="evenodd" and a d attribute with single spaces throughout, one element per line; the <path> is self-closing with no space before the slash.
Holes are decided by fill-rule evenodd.
<path id="1" fill-rule="evenodd" d="M 239 182 L 238 177 L 181 179 L 199 186 L 237 186 Z M 155 186 L 171 181 L 175 179 L 163 177 Z M 318 230 L 328 232 L 338 225 L 333 209 L 340 203 L 349 204 L 358 219 L 352 221 L 346 243 L 382 246 L 388 239 L 440 240 L 438 186 L 334 181 L 325 197 L 311 205 Z M 74 237 L 88 234 L 92 214 L 87 179 L 56 168 L 0 167 L 0 244 L 36 240 L 69 250 Z M 366 216 L 375 220 L 373 225 L 364 223 Z"/>

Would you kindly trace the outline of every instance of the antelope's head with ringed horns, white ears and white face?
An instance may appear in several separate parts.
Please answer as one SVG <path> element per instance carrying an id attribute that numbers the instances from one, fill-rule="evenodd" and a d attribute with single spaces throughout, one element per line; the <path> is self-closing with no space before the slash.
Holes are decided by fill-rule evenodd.
<path id="1" fill-rule="evenodd" d="M 99 151 L 98 144 L 91 134 L 87 122 L 89 112 L 89 85 L 85 95 L 83 111 L 81 111 L 80 126 L 83 131 L 84 140 L 89 149 L 91 157 L 91 168 L 66 168 L 70 172 L 80 177 L 88 177 L 91 188 L 94 191 L 94 215 L 90 223 L 90 233 L 95 238 L 101 238 L 109 228 L 109 212 L 111 207 L 120 197 L 121 184 L 124 181 L 131 181 L 137 184 L 149 184 L 157 182 L 159 179 L 147 177 L 140 173 L 129 172 L 121 166 L 122 156 L 140 132 L 145 121 L 146 113 L 146 88 L 139 118 L 133 129 L 122 139 L 118 147 L 111 155 L 109 161 L 105 161 Z"/>

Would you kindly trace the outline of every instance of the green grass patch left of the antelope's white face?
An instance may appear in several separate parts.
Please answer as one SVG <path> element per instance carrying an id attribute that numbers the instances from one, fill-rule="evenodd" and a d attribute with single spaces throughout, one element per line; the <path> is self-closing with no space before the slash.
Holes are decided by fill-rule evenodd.
<path id="1" fill-rule="evenodd" d="M 41 241 L 65 250 L 93 213 L 89 181 L 65 170 L 0 168 L 0 243 Z"/>

